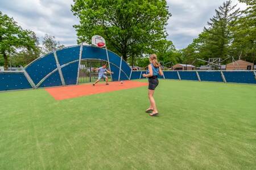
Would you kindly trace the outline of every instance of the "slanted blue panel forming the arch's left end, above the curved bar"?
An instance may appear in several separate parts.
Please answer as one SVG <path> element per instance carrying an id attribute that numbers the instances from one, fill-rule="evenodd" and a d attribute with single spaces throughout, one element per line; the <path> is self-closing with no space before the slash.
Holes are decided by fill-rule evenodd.
<path id="1" fill-rule="evenodd" d="M 38 84 L 47 74 L 57 68 L 53 53 L 49 53 L 44 57 L 36 59 L 33 63 L 26 67 L 27 73 L 35 84 Z"/>

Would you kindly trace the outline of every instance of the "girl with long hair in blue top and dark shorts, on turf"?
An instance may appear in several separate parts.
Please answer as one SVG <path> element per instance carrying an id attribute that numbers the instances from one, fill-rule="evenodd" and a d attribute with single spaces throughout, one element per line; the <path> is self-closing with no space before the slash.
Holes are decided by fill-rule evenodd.
<path id="1" fill-rule="evenodd" d="M 158 115 L 158 109 L 156 108 L 154 92 L 155 88 L 158 86 L 158 74 L 163 76 L 163 71 L 160 68 L 160 63 L 156 54 L 151 54 L 150 65 L 148 65 L 148 73 L 143 74 L 143 77 L 148 78 L 148 99 L 150 100 L 150 107 L 146 110 L 146 113 L 150 113 L 150 116 Z M 151 113 L 152 112 L 152 113 Z"/>

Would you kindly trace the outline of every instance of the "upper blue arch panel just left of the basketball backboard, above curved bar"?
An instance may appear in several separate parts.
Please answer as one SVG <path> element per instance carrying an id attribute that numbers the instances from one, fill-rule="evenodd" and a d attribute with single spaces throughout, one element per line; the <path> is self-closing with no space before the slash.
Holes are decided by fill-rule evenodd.
<path id="1" fill-rule="evenodd" d="M 79 59 L 80 46 L 72 46 L 56 51 L 60 65 L 75 61 Z"/>

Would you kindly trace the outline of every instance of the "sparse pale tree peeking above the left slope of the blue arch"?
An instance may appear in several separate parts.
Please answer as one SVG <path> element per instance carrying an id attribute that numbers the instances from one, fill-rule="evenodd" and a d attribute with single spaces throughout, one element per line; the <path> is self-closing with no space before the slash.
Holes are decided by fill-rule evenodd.
<path id="1" fill-rule="evenodd" d="M 43 38 L 43 53 L 47 54 L 54 50 L 63 48 L 64 45 L 60 44 L 60 41 L 55 40 L 55 36 L 46 34 Z"/>

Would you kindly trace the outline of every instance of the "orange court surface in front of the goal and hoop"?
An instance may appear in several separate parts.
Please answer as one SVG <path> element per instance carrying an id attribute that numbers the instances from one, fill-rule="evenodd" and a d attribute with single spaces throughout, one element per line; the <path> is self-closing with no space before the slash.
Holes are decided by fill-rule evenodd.
<path id="1" fill-rule="evenodd" d="M 121 84 L 121 82 L 109 82 L 109 85 L 98 83 L 96 86 L 92 84 L 81 84 L 77 86 L 51 87 L 46 88 L 46 91 L 52 95 L 55 100 L 64 100 L 143 86 L 148 86 L 148 83 L 127 80 L 123 81 L 123 84 Z"/>

